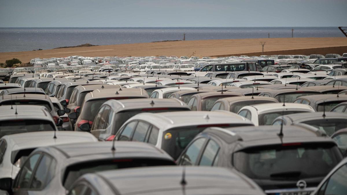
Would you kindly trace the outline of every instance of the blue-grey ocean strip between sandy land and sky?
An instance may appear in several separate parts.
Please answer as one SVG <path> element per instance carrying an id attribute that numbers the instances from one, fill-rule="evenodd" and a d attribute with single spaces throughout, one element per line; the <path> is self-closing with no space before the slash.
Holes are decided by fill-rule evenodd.
<path id="1" fill-rule="evenodd" d="M 0 28 L 0 52 L 31 51 L 85 43 L 113 45 L 164 40 L 291 37 L 291 27 Z M 337 27 L 295 27 L 294 37 L 343 37 Z"/>

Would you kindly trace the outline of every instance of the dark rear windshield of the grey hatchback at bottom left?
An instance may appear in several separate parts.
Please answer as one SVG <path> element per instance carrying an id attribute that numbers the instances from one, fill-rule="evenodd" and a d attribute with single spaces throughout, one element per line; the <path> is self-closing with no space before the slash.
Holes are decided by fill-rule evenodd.
<path id="1" fill-rule="evenodd" d="M 65 189 L 69 189 L 70 186 L 80 176 L 86 173 L 115 170 L 132 167 L 149 167 L 149 166 L 168 166 L 175 165 L 174 162 L 164 159 L 111 159 L 111 160 L 99 160 L 99 161 L 88 161 L 71 165 L 66 168 L 63 183 Z"/>

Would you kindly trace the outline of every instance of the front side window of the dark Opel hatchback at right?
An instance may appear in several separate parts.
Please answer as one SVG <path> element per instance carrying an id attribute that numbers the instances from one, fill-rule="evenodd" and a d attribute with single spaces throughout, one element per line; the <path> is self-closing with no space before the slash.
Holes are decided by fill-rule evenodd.
<path id="1" fill-rule="evenodd" d="M 206 138 L 196 139 L 181 156 L 181 165 L 194 165 Z"/>

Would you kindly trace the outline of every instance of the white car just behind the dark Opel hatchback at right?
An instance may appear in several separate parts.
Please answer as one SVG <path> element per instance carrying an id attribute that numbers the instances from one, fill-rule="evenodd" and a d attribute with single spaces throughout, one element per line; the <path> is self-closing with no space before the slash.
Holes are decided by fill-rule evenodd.
<path id="1" fill-rule="evenodd" d="M 238 115 L 251 120 L 255 126 L 271 125 L 273 120 L 282 115 L 314 112 L 310 105 L 298 103 L 264 103 L 242 107 Z"/>

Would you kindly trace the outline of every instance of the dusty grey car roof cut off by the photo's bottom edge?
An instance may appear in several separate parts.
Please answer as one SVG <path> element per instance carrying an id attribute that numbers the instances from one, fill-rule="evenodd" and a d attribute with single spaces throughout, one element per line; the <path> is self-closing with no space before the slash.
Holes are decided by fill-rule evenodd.
<path id="1" fill-rule="evenodd" d="M 263 194 L 254 181 L 235 169 L 222 167 L 137 167 L 95 172 L 83 177 L 92 182 L 93 175 L 106 180 L 119 194 Z"/>

